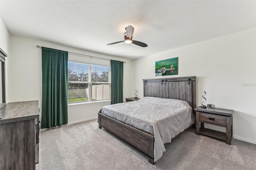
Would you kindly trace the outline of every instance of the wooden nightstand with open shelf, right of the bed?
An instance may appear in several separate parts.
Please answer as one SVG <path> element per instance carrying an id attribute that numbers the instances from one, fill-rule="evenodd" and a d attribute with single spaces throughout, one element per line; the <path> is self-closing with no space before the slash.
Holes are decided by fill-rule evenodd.
<path id="1" fill-rule="evenodd" d="M 231 145 L 232 139 L 232 114 L 234 110 L 221 108 L 195 108 L 196 111 L 196 134 L 204 134 L 221 140 Z M 199 128 L 199 122 L 201 127 Z M 226 127 L 226 133 L 204 128 L 204 123 Z"/>

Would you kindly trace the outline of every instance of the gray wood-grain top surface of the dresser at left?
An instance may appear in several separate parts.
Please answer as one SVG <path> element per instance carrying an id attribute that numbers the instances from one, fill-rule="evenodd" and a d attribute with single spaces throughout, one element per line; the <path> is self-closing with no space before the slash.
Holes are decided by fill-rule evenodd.
<path id="1" fill-rule="evenodd" d="M 0 124 L 39 118 L 38 100 L 12 102 L 0 108 Z"/>

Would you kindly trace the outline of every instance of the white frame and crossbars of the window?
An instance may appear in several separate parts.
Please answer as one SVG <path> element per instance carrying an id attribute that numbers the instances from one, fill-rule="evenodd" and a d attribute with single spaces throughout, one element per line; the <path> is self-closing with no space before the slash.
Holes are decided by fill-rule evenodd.
<path id="1" fill-rule="evenodd" d="M 88 81 L 87 82 L 81 82 L 81 81 L 68 81 L 67 83 L 81 83 L 81 84 L 88 84 L 88 88 L 90 85 L 93 84 L 109 84 L 109 98 L 108 99 L 102 99 L 102 100 L 92 100 L 92 88 L 89 88 L 89 96 L 87 101 L 79 101 L 79 102 L 68 102 L 68 104 L 79 104 L 79 103 L 93 103 L 93 102 L 105 102 L 111 100 L 111 67 L 110 65 L 106 64 L 98 64 L 98 63 L 93 63 L 93 62 L 83 62 L 83 61 L 78 61 L 78 60 L 68 60 L 68 62 L 77 62 L 77 63 L 82 63 L 82 64 L 88 64 Z M 108 67 L 108 82 L 92 82 L 92 69 L 91 66 L 96 65 L 96 66 L 106 66 Z M 68 78 L 67 78 L 68 80 Z M 69 99 L 69 98 L 68 98 Z"/>

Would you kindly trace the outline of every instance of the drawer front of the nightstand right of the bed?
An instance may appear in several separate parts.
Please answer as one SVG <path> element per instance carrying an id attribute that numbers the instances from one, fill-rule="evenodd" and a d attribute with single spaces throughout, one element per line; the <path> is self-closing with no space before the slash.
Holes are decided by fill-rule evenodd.
<path id="1" fill-rule="evenodd" d="M 226 127 L 226 116 L 220 116 L 215 114 L 200 113 L 199 121 L 209 124 L 215 124 L 218 126 Z"/>

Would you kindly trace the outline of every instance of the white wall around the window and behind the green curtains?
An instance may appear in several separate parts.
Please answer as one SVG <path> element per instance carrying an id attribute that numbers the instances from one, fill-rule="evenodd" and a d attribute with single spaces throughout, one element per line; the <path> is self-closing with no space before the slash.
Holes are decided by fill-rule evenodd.
<path id="1" fill-rule="evenodd" d="M 126 61 L 126 63 L 124 63 L 124 101 L 125 98 L 131 97 L 131 60 L 71 48 L 60 44 L 53 44 L 50 42 L 43 42 L 40 40 L 32 40 L 28 38 L 11 35 L 11 102 L 39 100 L 40 108 L 42 108 L 42 51 L 40 48 L 37 48 L 36 45 L 90 56 L 97 56 L 106 59 Z M 84 60 L 90 59 L 85 56 L 75 55 L 70 55 L 70 58 L 72 58 L 73 60 L 79 58 L 84 58 Z M 92 60 L 97 61 L 95 58 L 92 58 Z M 68 122 L 96 118 L 100 108 L 108 104 L 110 104 L 110 101 L 69 105 Z"/>

